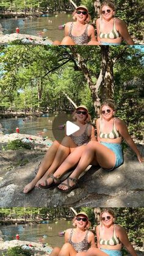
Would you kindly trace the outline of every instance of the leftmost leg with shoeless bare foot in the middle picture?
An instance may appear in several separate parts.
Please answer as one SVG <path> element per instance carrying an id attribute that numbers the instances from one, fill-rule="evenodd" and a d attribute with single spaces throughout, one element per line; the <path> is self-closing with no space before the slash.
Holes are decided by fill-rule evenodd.
<path id="1" fill-rule="evenodd" d="M 41 177 L 45 174 L 45 172 L 48 170 L 48 168 L 51 166 L 52 162 L 54 161 L 54 158 L 56 156 L 57 150 L 59 148 L 60 143 L 58 141 L 54 141 L 51 145 L 51 147 L 46 152 L 46 155 L 44 156 L 43 160 L 41 161 L 40 167 L 38 169 L 37 175 L 35 178 L 24 187 L 24 193 L 29 192 L 31 189 L 34 188 L 34 186 L 37 184 L 38 180 L 40 180 Z"/>

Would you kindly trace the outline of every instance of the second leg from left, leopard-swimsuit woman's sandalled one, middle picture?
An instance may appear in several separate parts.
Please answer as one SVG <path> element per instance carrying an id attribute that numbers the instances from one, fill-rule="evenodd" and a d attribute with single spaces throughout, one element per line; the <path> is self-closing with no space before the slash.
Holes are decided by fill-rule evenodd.
<path id="1" fill-rule="evenodd" d="M 54 158 L 54 161 L 52 162 L 51 166 L 49 169 L 46 171 L 45 175 L 37 182 L 36 186 L 42 185 L 45 186 L 45 181 L 49 177 L 49 175 L 54 174 L 56 169 L 60 166 L 60 164 L 63 163 L 63 161 L 67 158 L 67 156 L 71 153 L 71 151 L 76 148 L 76 144 L 74 143 L 73 139 L 71 139 L 70 136 L 65 136 L 59 145 L 59 148 L 57 150 L 56 156 Z M 68 169 L 67 169 L 68 170 Z M 64 173 L 64 172 L 63 172 Z M 62 175 L 62 174 L 61 174 Z M 52 179 L 50 178 L 51 181 L 48 181 L 48 184 L 50 185 L 52 182 Z"/>

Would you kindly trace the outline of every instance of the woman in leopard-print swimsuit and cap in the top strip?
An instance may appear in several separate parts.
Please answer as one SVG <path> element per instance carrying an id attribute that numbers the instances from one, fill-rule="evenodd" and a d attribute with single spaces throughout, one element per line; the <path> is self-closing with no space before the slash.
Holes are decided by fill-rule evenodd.
<path id="1" fill-rule="evenodd" d="M 73 12 L 75 21 L 65 24 L 65 37 L 62 42 L 54 41 L 53 45 L 88 45 L 90 40 L 96 44 L 94 27 L 88 24 L 90 18 L 87 7 L 78 6 Z"/>

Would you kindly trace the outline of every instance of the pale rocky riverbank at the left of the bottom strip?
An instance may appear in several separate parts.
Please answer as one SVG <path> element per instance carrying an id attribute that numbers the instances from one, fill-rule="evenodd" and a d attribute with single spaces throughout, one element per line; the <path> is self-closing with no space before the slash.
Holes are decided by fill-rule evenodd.
<path id="1" fill-rule="evenodd" d="M 52 247 L 30 242 L 30 241 L 21 241 L 21 240 L 10 240 L 10 241 L 1 241 L 0 240 L 0 255 L 6 255 L 7 249 L 21 246 L 23 249 L 29 250 L 32 252 L 32 255 L 49 255 L 52 251 Z"/>

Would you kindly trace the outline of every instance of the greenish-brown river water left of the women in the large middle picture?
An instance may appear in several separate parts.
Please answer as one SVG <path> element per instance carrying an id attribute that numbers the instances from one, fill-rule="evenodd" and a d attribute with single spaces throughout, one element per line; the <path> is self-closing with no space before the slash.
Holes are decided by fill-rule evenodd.
<path id="1" fill-rule="evenodd" d="M 70 114 L 65 114 L 68 117 L 68 120 L 71 120 Z M 15 133 L 16 127 L 20 129 L 21 134 L 29 134 L 29 135 L 38 135 L 40 131 L 43 131 L 43 129 L 48 130 L 48 137 L 52 141 L 54 141 L 54 135 L 52 133 L 52 122 L 54 121 L 54 118 L 56 115 L 48 114 L 48 117 L 33 117 L 32 119 L 24 119 L 24 118 L 9 118 L 9 119 L 0 119 L 0 123 L 2 124 L 2 127 L 6 130 L 4 131 L 4 134 L 8 133 Z M 61 123 L 63 125 L 63 123 Z M 60 131 L 58 129 L 56 133 L 63 133 L 63 131 Z M 63 133 L 64 134 L 64 133 Z M 63 136 L 63 135 L 62 135 Z"/>

